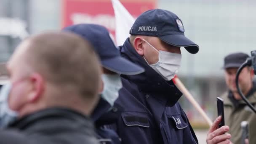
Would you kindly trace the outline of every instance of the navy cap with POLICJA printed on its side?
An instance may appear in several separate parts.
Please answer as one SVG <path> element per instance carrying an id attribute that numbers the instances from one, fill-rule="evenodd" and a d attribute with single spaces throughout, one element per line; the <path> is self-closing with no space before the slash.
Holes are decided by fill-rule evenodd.
<path id="1" fill-rule="evenodd" d="M 153 9 L 142 13 L 136 19 L 130 34 L 158 37 L 170 45 L 186 48 L 189 53 L 197 53 L 199 46 L 185 37 L 184 31 L 182 21 L 176 14 Z"/>

